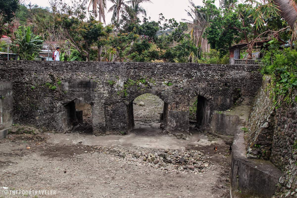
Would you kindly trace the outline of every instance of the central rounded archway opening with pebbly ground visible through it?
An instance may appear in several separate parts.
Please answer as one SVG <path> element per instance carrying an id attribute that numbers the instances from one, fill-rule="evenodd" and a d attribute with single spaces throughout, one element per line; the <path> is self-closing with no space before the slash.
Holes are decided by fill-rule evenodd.
<path id="1" fill-rule="evenodd" d="M 128 132 L 142 126 L 165 129 L 167 126 L 168 104 L 159 96 L 145 93 L 135 97 L 127 105 Z"/>

